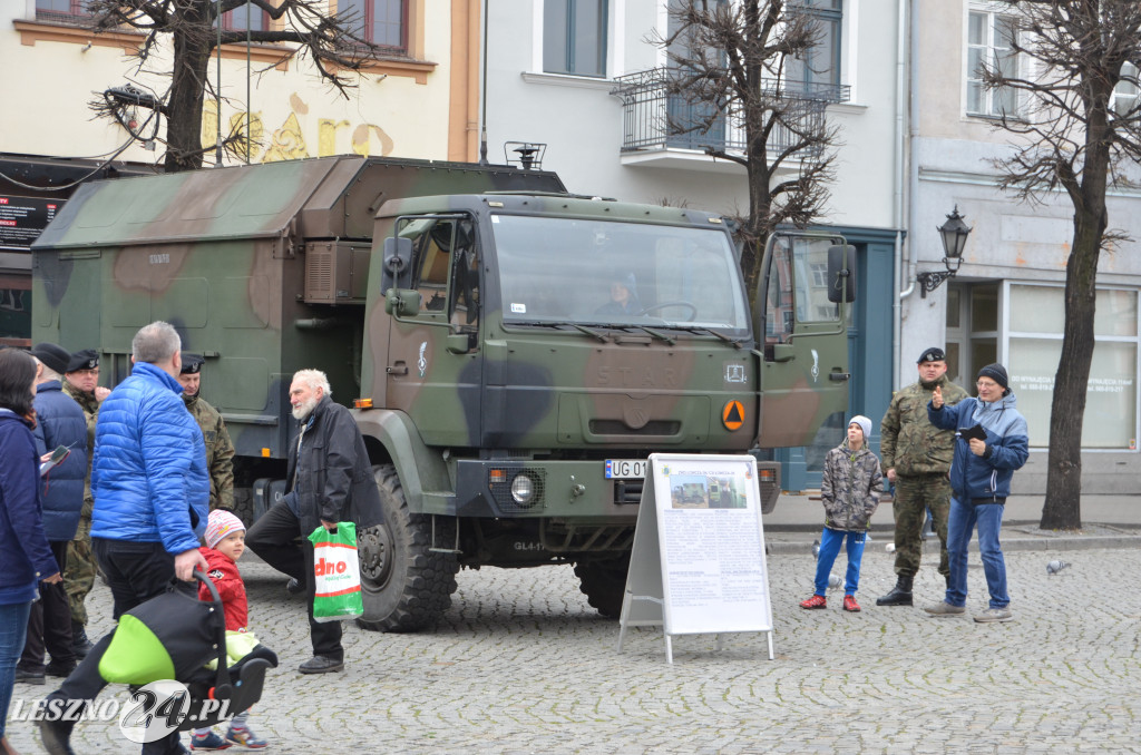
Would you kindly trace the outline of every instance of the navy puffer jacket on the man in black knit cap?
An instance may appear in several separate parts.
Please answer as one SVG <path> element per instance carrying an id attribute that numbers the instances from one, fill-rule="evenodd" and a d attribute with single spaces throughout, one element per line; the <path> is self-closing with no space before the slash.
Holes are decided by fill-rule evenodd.
<path id="1" fill-rule="evenodd" d="M 71 453 L 50 470 L 43 484 L 43 531 L 51 542 L 75 537 L 79 513 L 83 509 L 87 478 L 87 417 L 75 400 L 65 393 L 58 380 L 35 387 L 35 452 L 41 456 L 57 446 Z"/>

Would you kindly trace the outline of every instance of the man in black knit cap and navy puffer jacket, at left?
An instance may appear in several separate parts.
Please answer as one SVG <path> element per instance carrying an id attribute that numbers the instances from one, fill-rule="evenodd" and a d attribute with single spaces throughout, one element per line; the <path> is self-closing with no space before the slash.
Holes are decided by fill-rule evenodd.
<path id="1" fill-rule="evenodd" d="M 43 531 L 51 553 L 63 571 L 67 545 L 75 536 L 79 512 L 83 508 L 83 478 L 87 476 L 87 421 L 83 409 L 63 392 L 62 374 L 67 372 L 71 354 L 55 343 L 37 343 L 35 453 L 40 456 L 65 446 L 71 450 L 62 463 L 40 478 L 43 501 Z M 44 650 L 51 663 L 44 666 Z M 16 666 L 16 681 L 42 684 L 44 672 L 66 676 L 75 668 L 72 649 L 71 607 L 62 583 L 40 583 L 40 600 L 32 603 L 27 619 L 24 652 Z"/>

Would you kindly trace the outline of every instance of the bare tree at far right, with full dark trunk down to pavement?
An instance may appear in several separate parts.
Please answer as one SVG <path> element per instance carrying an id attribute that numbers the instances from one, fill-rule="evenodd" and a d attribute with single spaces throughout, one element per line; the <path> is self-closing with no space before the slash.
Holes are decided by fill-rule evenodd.
<path id="1" fill-rule="evenodd" d="M 1043 528 L 1082 526 L 1082 425 L 1093 360 L 1098 261 L 1123 241 L 1109 229 L 1106 192 L 1128 185 L 1141 160 L 1138 98 L 1115 99 L 1136 87 L 1141 65 L 1141 3 L 1136 0 L 1006 0 L 1012 51 L 1021 71 L 985 66 L 984 86 L 1018 97 L 1000 128 L 1014 153 L 997 161 L 1001 185 L 1026 201 L 1061 190 L 1074 205 L 1066 266 L 1066 322 L 1050 413 L 1050 457 Z M 1130 64 L 1130 65 L 1126 65 Z M 1008 66 L 1009 67 L 1009 66 Z"/>

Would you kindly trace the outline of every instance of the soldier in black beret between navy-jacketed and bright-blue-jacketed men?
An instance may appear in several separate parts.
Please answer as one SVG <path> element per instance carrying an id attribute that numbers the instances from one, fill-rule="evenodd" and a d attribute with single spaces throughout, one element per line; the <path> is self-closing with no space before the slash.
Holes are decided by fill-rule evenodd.
<path id="1" fill-rule="evenodd" d="M 87 479 L 83 484 L 83 509 L 79 529 L 67 546 L 67 567 L 64 569 L 64 590 L 72 611 L 72 649 L 80 658 L 91 649 L 87 638 L 87 607 L 83 601 L 95 585 L 98 566 L 91 552 L 91 457 L 95 453 L 95 423 L 99 403 L 111 392 L 99 383 L 99 352 L 84 349 L 72 355 L 64 374 L 64 392 L 75 399 L 87 417 Z"/>

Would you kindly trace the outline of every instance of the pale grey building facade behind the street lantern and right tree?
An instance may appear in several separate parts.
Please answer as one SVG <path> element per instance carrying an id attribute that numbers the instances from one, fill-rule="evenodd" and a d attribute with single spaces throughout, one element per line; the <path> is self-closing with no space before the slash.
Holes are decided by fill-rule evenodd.
<path id="1" fill-rule="evenodd" d="M 1022 116 L 1026 104 L 1012 91 L 987 91 L 978 66 L 980 60 L 1011 71 L 1028 65 L 1010 50 L 1010 6 L 956 0 L 915 2 L 912 9 L 912 233 L 898 282 L 909 291 L 901 299 L 899 381 L 914 376 L 907 357 L 932 343 L 946 343 L 950 375 L 972 393 L 980 367 L 1006 365 L 1030 432 L 1030 458 L 1014 476 L 1014 488 L 1042 494 L 1074 209 L 1061 193 L 1028 204 L 997 188 L 993 160 L 1010 154 L 1012 139 L 994 128 L 997 116 Z M 1132 102 L 1136 91 L 1126 86 L 1116 96 Z M 1108 198 L 1109 228 L 1130 241 L 1099 263 L 1097 344 L 1082 436 L 1087 493 L 1138 490 L 1139 198 L 1136 189 L 1112 188 Z M 924 297 L 915 273 L 946 269 L 934 228 L 954 208 L 972 228 L 962 267 Z"/>

